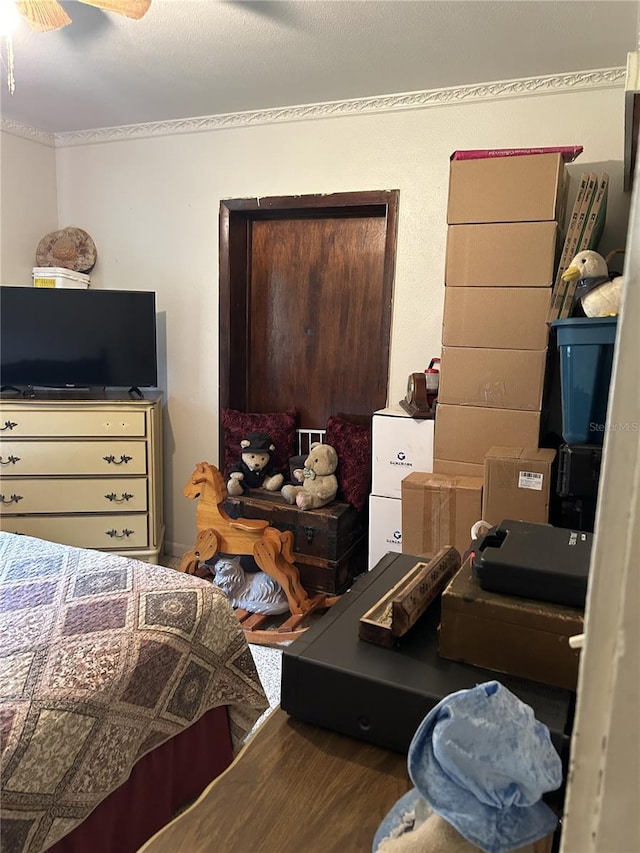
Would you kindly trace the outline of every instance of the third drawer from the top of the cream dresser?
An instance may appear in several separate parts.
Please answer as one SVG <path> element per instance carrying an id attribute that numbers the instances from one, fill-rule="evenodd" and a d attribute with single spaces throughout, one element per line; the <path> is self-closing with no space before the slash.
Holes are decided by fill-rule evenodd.
<path id="1" fill-rule="evenodd" d="M 0 514 L 61 512 L 146 512 L 146 479 L 19 478 L 0 480 Z"/>

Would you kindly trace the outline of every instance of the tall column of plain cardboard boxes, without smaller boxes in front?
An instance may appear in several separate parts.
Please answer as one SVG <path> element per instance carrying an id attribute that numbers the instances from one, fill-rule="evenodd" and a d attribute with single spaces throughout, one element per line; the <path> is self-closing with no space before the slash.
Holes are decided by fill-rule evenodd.
<path id="1" fill-rule="evenodd" d="M 491 446 L 538 447 L 566 171 L 560 153 L 450 169 L 434 470 L 482 477 Z"/>

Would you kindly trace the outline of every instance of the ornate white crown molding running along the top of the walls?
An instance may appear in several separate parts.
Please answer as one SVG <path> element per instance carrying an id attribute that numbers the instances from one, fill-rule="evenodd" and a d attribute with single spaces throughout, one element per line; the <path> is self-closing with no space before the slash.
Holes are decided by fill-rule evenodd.
<path id="1" fill-rule="evenodd" d="M 119 142 L 126 139 L 145 139 L 152 136 L 170 136 L 178 133 L 200 133 L 226 130 L 228 128 L 252 127 L 264 124 L 308 121 L 379 112 L 424 109 L 448 104 L 460 104 L 481 100 L 521 98 L 524 95 L 561 94 L 584 89 L 610 89 L 624 86 L 626 68 L 601 68 L 595 71 L 580 71 L 572 74 L 556 74 L 545 77 L 529 77 L 473 86 L 452 86 L 422 92 L 407 92 L 398 95 L 381 95 L 372 98 L 352 98 L 345 101 L 329 101 L 320 104 L 303 104 L 278 107 L 252 112 L 221 113 L 198 118 L 172 119 L 170 121 L 130 124 L 121 127 L 105 127 L 95 130 L 79 130 L 67 133 L 45 134 L 44 131 L 26 128 L 17 122 L 9 122 L 12 128 L 2 129 L 16 135 L 36 138 L 56 147 L 90 145 L 92 143 Z M 20 133 L 23 128 L 27 133 Z M 45 138 L 46 137 L 46 138 Z"/>

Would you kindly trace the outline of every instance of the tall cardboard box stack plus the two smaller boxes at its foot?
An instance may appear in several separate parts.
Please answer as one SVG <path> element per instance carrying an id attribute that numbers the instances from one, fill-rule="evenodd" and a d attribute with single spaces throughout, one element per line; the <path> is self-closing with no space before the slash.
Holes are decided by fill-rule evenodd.
<path id="1" fill-rule="evenodd" d="M 547 520 L 555 452 L 538 440 L 567 183 L 561 153 L 451 161 L 434 473 L 402 484 L 405 553 L 464 553 L 475 521 L 510 510 Z"/>

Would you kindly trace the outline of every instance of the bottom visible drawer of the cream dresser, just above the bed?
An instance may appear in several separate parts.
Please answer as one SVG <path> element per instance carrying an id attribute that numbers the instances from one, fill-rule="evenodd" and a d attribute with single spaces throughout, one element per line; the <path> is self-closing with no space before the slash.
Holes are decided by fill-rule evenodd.
<path id="1" fill-rule="evenodd" d="M 147 516 L 143 513 L 117 516 L 3 515 L 0 517 L 0 529 L 77 548 L 124 551 L 127 548 L 146 548 L 149 544 Z"/>

